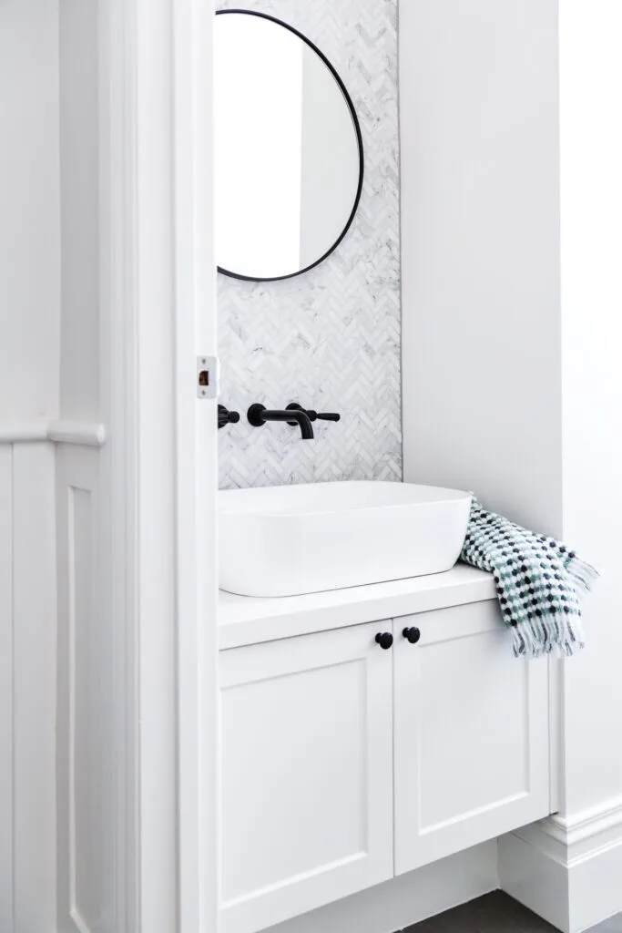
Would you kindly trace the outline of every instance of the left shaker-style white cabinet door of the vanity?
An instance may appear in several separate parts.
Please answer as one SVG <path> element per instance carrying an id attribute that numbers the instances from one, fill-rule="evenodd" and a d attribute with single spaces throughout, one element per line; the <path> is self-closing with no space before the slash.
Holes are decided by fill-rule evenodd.
<path id="1" fill-rule="evenodd" d="M 221 654 L 222 930 L 393 876 L 391 623 Z"/>

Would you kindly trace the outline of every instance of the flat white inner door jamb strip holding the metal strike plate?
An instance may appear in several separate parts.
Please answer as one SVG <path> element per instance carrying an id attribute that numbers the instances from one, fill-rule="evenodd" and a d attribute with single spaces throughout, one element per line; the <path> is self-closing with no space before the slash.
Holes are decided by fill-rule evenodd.
<path id="1" fill-rule="evenodd" d="M 173 35 L 180 931 L 217 933 L 217 402 L 197 376 L 217 355 L 214 0 L 174 0 Z"/>

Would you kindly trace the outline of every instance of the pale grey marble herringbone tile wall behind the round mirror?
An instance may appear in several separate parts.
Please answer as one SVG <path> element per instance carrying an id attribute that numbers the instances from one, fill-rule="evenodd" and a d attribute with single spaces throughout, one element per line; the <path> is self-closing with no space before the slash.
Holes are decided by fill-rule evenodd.
<path id="1" fill-rule="evenodd" d="M 219 432 L 221 487 L 400 480 L 397 0 L 221 6 L 270 13 L 325 52 L 352 96 L 366 155 L 358 215 L 325 263 L 284 282 L 218 276 L 221 401 L 242 412 Z M 303 441 L 287 425 L 248 425 L 255 401 L 299 401 L 342 420 L 316 424 L 316 439 Z"/>

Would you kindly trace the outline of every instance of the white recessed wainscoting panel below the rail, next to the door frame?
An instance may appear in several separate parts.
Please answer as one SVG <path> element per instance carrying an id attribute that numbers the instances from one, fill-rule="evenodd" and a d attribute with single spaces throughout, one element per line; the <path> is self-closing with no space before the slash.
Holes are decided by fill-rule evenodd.
<path id="1" fill-rule="evenodd" d="M 114 929 L 112 627 L 98 581 L 100 456 L 57 453 L 59 933 Z"/>

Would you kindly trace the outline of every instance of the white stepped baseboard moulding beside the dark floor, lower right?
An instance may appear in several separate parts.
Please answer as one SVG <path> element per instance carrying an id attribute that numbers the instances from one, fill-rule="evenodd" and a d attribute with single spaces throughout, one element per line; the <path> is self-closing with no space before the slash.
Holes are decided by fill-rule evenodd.
<path id="1" fill-rule="evenodd" d="M 499 840 L 503 890 L 563 933 L 622 912 L 622 798 Z"/>

